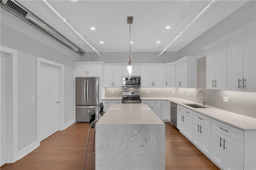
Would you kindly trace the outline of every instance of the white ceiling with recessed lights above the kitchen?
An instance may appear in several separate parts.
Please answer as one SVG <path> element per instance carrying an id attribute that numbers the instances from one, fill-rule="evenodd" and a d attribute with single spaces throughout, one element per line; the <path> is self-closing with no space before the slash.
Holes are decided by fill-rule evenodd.
<path id="1" fill-rule="evenodd" d="M 54 27 L 86 52 L 93 50 L 39 0 L 18 0 L 23 6 Z M 48 0 L 82 37 L 99 52 L 129 51 L 131 24 L 132 52 L 162 51 L 208 4 L 209 0 Z M 166 51 L 179 51 L 196 37 L 246 4 L 245 0 L 216 1 Z M 166 29 L 170 26 L 170 29 Z M 95 27 L 95 30 L 91 30 Z M 104 43 L 101 44 L 100 41 Z M 160 41 L 160 43 L 156 43 Z"/>

